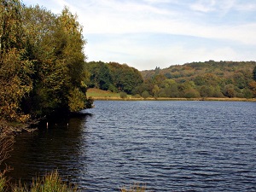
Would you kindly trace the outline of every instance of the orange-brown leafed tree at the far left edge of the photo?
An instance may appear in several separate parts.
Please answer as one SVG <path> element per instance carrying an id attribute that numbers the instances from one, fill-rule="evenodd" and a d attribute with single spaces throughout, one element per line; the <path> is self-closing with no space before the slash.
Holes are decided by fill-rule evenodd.
<path id="1" fill-rule="evenodd" d="M 20 1 L 0 4 L 0 116 L 24 122 L 29 118 L 20 102 L 32 90 L 32 61 L 26 57 L 22 37 Z"/>

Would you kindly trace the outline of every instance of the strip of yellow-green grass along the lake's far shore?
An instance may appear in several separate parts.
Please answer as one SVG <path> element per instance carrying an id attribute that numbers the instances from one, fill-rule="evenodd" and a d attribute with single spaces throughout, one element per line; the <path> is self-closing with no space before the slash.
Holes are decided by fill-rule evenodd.
<path id="1" fill-rule="evenodd" d="M 92 97 L 94 100 L 129 100 L 129 101 L 230 101 L 230 102 L 256 102 L 256 99 L 246 99 L 246 98 L 217 98 L 217 97 L 207 97 L 207 98 L 166 98 L 166 97 L 148 97 L 144 99 L 143 97 L 134 98 L 128 95 L 127 98 L 121 98 L 119 93 L 113 93 L 109 90 L 98 90 L 96 88 L 91 88 L 86 92 L 87 96 Z"/>

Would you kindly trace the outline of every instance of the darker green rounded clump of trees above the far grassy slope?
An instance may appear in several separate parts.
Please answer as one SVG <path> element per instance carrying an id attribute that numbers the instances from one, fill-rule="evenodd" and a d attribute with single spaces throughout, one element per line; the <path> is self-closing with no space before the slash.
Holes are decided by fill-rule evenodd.
<path id="1" fill-rule="evenodd" d="M 134 67 L 116 62 L 91 61 L 86 65 L 90 88 L 132 94 L 143 83 L 142 74 Z"/>

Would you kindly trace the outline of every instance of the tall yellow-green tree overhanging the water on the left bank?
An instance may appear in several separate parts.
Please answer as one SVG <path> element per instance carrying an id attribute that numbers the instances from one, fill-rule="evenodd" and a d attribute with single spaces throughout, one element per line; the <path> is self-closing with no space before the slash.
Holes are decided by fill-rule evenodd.
<path id="1" fill-rule="evenodd" d="M 54 15 L 38 6 L 23 16 L 27 56 L 34 64 L 33 90 L 23 103 L 36 115 L 79 111 L 88 103 L 82 26 L 65 7 Z M 83 103 L 83 104 L 82 104 Z"/>

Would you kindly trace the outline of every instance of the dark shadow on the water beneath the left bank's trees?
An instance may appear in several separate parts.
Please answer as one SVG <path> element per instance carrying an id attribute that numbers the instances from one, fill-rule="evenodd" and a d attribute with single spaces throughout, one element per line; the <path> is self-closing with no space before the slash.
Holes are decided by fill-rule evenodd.
<path id="1" fill-rule="evenodd" d="M 13 170 L 7 174 L 12 182 L 31 183 L 32 177 L 58 170 L 68 181 L 76 180 L 79 158 L 85 156 L 83 132 L 91 113 L 73 113 L 39 123 L 38 131 L 16 137 L 14 150 L 5 163 Z"/>

